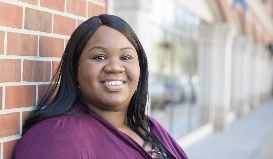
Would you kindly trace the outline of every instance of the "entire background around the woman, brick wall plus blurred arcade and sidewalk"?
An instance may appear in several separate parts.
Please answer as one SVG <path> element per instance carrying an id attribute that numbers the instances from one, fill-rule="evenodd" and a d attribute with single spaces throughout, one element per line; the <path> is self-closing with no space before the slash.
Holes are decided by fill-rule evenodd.
<path id="1" fill-rule="evenodd" d="M 148 114 L 190 159 L 273 159 L 273 0 L 0 0 L 0 159 L 72 32 L 105 13 L 136 32 Z"/>

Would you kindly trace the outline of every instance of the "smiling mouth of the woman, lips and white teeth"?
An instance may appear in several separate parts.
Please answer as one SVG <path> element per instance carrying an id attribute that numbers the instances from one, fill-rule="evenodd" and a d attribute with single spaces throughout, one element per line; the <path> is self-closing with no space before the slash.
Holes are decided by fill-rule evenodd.
<path id="1" fill-rule="evenodd" d="M 107 79 L 100 81 L 103 87 L 110 92 L 118 92 L 125 86 L 126 81 L 122 79 Z"/>

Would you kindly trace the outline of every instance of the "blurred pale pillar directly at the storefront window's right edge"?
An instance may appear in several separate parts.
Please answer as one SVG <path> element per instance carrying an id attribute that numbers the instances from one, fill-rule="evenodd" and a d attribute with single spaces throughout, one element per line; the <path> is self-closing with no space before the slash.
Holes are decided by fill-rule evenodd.
<path id="1" fill-rule="evenodd" d="M 217 24 L 212 32 L 211 101 L 215 129 L 228 129 L 230 110 L 233 31 L 228 23 Z"/>

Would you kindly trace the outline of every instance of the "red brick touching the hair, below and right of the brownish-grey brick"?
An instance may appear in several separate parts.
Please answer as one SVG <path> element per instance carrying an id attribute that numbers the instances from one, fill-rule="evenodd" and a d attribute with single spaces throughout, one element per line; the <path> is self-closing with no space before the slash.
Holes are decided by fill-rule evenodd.
<path id="1" fill-rule="evenodd" d="M 61 57 L 64 53 L 64 39 L 40 36 L 39 56 Z"/>

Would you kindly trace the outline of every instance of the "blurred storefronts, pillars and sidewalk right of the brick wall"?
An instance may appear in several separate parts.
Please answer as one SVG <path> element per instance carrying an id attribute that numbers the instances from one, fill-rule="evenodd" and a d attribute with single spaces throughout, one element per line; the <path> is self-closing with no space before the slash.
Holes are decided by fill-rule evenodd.
<path id="1" fill-rule="evenodd" d="M 273 158 L 272 0 L 108 0 L 150 69 L 148 114 L 191 158 Z"/>

